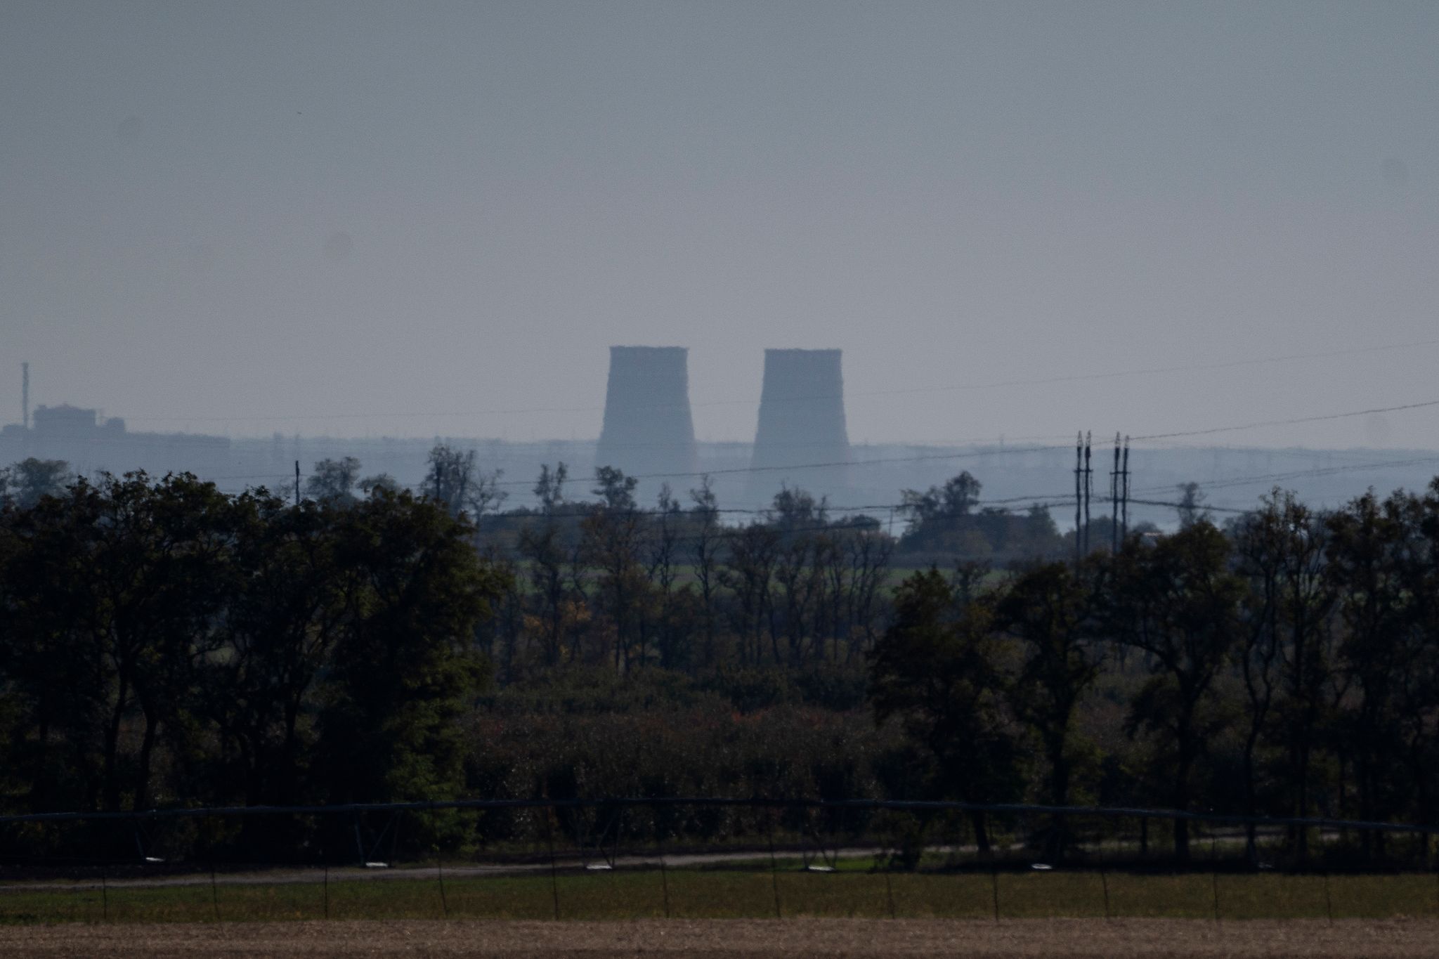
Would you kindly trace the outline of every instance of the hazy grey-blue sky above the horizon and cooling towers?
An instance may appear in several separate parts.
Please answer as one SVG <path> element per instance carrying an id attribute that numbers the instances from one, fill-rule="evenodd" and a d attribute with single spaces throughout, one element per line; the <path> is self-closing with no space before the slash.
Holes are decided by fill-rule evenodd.
<path id="1" fill-rule="evenodd" d="M 701 439 L 766 347 L 845 349 L 856 441 L 1439 400 L 1436 49 L 1373 0 L 4 0 L 0 421 L 29 359 L 131 428 L 593 437 L 610 344 L 689 347 Z"/>

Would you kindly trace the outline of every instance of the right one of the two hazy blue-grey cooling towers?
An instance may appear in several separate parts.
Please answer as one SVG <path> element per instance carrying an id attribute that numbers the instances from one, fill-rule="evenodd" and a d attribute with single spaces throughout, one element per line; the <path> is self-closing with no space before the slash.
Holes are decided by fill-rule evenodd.
<path id="1" fill-rule="evenodd" d="M 845 431 L 845 377 L 839 349 L 766 349 L 764 390 L 760 394 L 760 426 L 754 433 L 751 489 L 778 487 L 781 482 L 803 483 L 816 493 L 837 489 L 845 472 L 776 467 L 804 463 L 845 463 L 849 436 Z"/>

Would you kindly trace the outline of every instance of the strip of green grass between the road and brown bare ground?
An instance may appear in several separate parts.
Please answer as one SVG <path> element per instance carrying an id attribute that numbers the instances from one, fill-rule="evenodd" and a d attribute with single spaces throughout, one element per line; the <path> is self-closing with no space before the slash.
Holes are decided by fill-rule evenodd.
<path id="1" fill-rule="evenodd" d="M 1105 906 L 1108 887 L 1108 910 Z M 505 877 L 0 887 L 0 923 L 298 919 L 1387 919 L 1439 916 L 1439 877 L 671 868 Z"/>

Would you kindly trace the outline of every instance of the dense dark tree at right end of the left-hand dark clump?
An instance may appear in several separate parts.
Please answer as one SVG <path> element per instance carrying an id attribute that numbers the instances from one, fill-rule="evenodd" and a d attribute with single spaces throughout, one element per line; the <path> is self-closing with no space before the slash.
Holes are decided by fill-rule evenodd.
<path id="1" fill-rule="evenodd" d="M 410 493 L 344 510 L 335 561 L 353 571 L 319 717 L 330 802 L 433 799 L 463 789 L 462 713 L 486 680 L 476 623 L 502 591 L 473 528 Z"/>

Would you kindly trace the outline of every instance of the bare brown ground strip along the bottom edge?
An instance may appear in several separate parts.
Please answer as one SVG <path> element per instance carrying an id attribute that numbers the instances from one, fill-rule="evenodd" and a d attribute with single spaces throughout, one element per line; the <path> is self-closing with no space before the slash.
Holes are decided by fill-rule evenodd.
<path id="1" fill-rule="evenodd" d="M 0 927 L 3 956 L 1364 956 L 1439 953 L 1439 922 L 650 920 Z"/>

